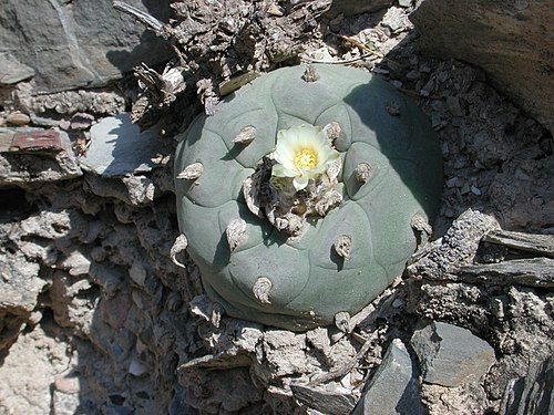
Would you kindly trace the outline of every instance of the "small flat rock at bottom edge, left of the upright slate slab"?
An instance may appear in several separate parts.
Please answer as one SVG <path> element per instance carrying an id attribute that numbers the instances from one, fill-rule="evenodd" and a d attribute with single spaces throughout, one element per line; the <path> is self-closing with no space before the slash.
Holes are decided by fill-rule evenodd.
<path id="1" fill-rule="evenodd" d="M 353 409 L 353 397 L 349 390 L 340 392 L 294 384 L 290 390 L 298 402 L 324 414 L 349 415 Z"/>

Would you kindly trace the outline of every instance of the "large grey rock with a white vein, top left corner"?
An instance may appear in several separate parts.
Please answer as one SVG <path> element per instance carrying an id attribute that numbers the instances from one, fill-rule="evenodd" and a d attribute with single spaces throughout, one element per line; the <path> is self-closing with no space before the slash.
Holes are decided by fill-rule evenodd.
<path id="1" fill-rule="evenodd" d="M 161 20 L 170 15 L 167 2 L 127 3 Z M 168 56 L 154 33 L 115 11 L 111 0 L 7 0 L 0 15 L 0 80 L 10 84 L 34 73 L 35 93 L 105 85 L 142 61 Z"/>

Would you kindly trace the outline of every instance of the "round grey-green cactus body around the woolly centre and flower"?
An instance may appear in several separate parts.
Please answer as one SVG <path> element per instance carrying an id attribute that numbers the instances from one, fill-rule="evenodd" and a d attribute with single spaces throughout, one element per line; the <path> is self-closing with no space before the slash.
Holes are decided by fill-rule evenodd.
<path id="1" fill-rule="evenodd" d="M 207 293 L 233 317 L 289 330 L 332 323 L 381 293 L 414 251 L 413 216 L 431 217 L 442 190 L 439 143 L 413 103 L 367 72 L 315 69 L 315 82 L 302 79 L 306 66 L 274 71 L 198 116 L 175 162 L 176 175 L 203 167 L 175 185 L 179 228 Z M 279 129 L 331 122 L 341 128 L 343 201 L 291 241 L 250 212 L 243 180 L 275 149 Z M 232 251 L 234 220 L 242 237 Z"/>

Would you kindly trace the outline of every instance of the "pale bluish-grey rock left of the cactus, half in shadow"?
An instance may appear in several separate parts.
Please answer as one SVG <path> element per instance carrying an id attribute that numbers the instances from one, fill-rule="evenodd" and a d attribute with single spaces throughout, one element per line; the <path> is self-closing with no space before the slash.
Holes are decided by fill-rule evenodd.
<path id="1" fill-rule="evenodd" d="M 152 158 L 167 147 L 160 137 L 160 127 L 140 132 L 129 114 L 102 118 L 90 133 L 91 145 L 80 163 L 103 177 L 150 172 L 158 167 Z"/>

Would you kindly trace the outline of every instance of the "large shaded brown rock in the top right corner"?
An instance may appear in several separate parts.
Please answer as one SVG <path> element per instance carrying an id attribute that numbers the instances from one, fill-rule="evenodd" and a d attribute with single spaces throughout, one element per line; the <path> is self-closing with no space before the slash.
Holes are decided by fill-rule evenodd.
<path id="1" fill-rule="evenodd" d="M 410 19 L 423 50 L 481 66 L 499 90 L 554 131 L 554 9 L 548 1 L 423 1 Z"/>

